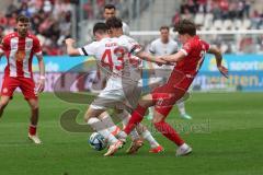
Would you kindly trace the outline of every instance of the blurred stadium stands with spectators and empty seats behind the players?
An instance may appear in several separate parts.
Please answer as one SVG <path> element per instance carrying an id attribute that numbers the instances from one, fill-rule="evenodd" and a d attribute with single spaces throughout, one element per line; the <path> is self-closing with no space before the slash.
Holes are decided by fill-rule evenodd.
<path id="1" fill-rule="evenodd" d="M 9 0 L 1 1 L 0 36 L 15 26 L 18 14 L 31 18 L 31 30 L 37 35 L 45 55 L 62 55 L 62 40 L 72 36 L 87 43 L 94 22 L 103 20 L 106 3 L 115 4 L 117 16 L 130 31 L 158 31 L 171 27 L 180 19 L 192 19 L 202 31 L 263 30 L 261 0 Z M 152 13 L 155 11 L 155 13 Z M 136 36 L 137 37 L 137 36 Z M 148 44 L 156 36 L 139 36 Z M 224 52 L 262 52 L 262 34 L 209 35 L 211 44 Z"/>

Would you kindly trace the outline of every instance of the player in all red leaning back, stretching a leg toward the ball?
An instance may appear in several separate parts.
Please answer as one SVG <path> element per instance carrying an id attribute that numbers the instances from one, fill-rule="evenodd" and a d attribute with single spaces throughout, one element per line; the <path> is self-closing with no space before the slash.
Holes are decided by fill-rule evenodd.
<path id="1" fill-rule="evenodd" d="M 217 68 L 222 75 L 228 75 L 228 69 L 221 66 L 221 52 L 217 48 L 210 47 L 196 35 L 196 26 L 193 22 L 182 20 L 174 30 L 179 33 L 179 39 L 183 44 L 182 49 L 176 54 L 160 56 L 159 58 L 168 62 L 176 62 L 176 66 L 164 85 L 155 89 L 139 101 L 121 136 L 122 139 L 125 139 L 130 130 L 142 120 L 147 108 L 155 106 L 152 122 L 158 131 L 179 147 L 176 155 L 180 156 L 191 153 L 192 148 L 165 122 L 168 114 L 173 105 L 182 100 L 187 92 L 204 61 L 206 52 L 215 55 Z M 117 150 L 113 149 L 113 151 L 116 152 Z"/>

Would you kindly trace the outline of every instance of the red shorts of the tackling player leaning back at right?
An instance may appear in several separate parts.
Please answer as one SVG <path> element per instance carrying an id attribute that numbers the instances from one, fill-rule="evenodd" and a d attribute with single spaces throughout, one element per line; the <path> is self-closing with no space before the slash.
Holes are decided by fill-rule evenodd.
<path id="1" fill-rule="evenodd" d="M 156 103 L 155 109 L 163 116 L 168 116 L 173 105 L 187 92 L 193 80 L 193 77 L 171 74 L 167 84 L 156 88 L 151 93 Z"/>

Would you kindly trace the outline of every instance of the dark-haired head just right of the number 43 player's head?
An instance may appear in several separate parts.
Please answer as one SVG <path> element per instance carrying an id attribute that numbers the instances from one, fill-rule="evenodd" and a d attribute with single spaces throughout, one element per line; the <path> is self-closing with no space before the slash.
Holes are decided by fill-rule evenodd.
<path id="1" fill-rule="evenodd" d="M 115 18 L 115 16 L 110 18 L 106 21 L 106 25 L 107 25 L 111 37 L 118 37 L 118 36 L 123 35 L 123 22 L 121 19 Z"/>

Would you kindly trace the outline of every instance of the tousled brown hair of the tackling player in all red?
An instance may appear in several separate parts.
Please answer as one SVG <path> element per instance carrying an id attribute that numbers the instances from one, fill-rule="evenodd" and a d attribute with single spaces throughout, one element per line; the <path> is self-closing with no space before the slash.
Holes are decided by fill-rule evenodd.
<path id="1" fill-rule="evenodd" d="M 182 20 L 175 24 L 173 31 L 176 31 L 180 35 L 188 34 L 194 36 L 196 35 L 196 25 L 191 20 Z"/>

